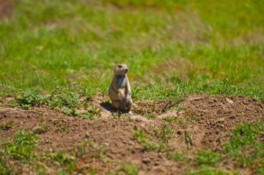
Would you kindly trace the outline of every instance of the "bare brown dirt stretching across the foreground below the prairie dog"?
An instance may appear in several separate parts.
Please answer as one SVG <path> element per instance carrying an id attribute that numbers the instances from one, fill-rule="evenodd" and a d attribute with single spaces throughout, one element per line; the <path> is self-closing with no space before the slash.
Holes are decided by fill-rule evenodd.
<path id="1" fill-rule="evenodd" d="M 89 140 L 108 147 L 104 158 L 82 156 L 77 159 L 76 174 L 80 169 L 97 169 L 99 174 L 106 174 L 115 169 L 119 162 L 128 161 L 138 166 L 139 174 L 181 174 L 188 165 L 180 165 L 168 159 L 164 153 L 146 151 L 133 138 L 135 128 L 151 133 L 153 128 L 160 128 L 163 123 L 174 129 L 169 147 L 176 151 L 196 151 L 197 149 L 218 150 L 224 140 L 229 138 L 227 131 L 242 122 L 256 122 L 264 119 L 264 104 L 249 97 L 195 94 L 186 97 L 180 105 L 183 110 L 168 110 L 170 101 L 141 101 L 134 113 L 156 113 L 158 117 L 147 119 L 142 115 L 113 118 L 108 103 L 102 103 L 106 97 L 92 98 L 94 105 L 101 108 L 102 119 L 88 120 L 69 117 L 47 107 L 22 110 L 21 108 L 0 107 L 0 124 L 12 121 L 14 126 L 8 131 L 1 131 L 0 138 L 11 139 L 13 134 L 24 128 L 33 131 L 33 127 L 44 125 L 47 133 L 39 134 L 39 144 L 35 151 L 71 152 L 83 144 L 85 133 L 90 133 Z M 152 103 L 153 102 L 153 103 Z M 142 106 L 151 108 L 142 110 Z M 176 117 L 181 122 L 165 122 L 164 117 Z M 189 142 L 186 142 L 187 134 Z M 152 137 L 150 137 L 151 139 Z M 154 138 L 153 138 L 154 139 Z M 3 142 L 3 139 L 0 140 Z M 21 165 L 22 166 L 22 165 Z M 23 167 L 23 166 L 22 166 Z M 46 169 L 53 174 L 56 169 Z M 19 173 L 28 174 L 30 169 L 20 168 Z"/>

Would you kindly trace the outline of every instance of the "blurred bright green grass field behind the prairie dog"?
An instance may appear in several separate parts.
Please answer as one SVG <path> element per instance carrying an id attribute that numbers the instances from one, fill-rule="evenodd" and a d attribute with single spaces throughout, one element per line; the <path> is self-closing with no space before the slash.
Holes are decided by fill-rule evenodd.
<path id="1" fill-rule="evenodd" d="M 113 65 L 126 63 L 133 98 L 208 92 L 263 100 L 263 5 L 17 1 L 13 14 L 0 22 L 1 96 L 8 87 L 51 94 L 72 83 L 91 94 L 106 92 Z M 28 108 L 35 100 L 40 99 L 18 102 Z M 70 101 L 58 96 L 51 106 L 65 102 Z"/>

